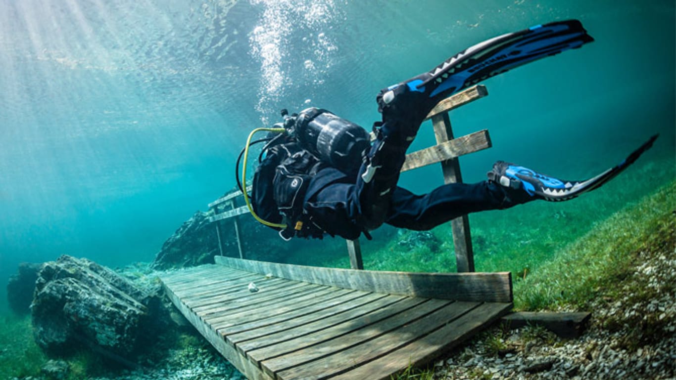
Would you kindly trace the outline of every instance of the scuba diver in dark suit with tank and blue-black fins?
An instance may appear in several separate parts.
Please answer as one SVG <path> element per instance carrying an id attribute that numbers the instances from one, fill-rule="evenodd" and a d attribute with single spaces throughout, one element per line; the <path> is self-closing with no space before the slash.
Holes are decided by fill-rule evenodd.
<path id="1" fill-rule="evenodd" d="M 460 215 L 536 199 L 569 200 L 602 186 L 648 150 L 657 136 L 589 180 L 558 180 L 498 161 L 487 180 L 476 184 L 445 184 L 423 195 L 397 186 L 406 150 L 439 101 L 513 67 L 593 40 L 579 21 L 568 20 L 504 34 L 461 51 L 430 72 L 381 90 L 376 100 L 382 121 L 373 126 L 373 142 L 364 128 L 327 110 L 309 108 L 292 115 L 283 110 L 284 121 L 251 132 L 243 150 L 242 182 L 251 137 L 260 130 L 272 135 L 258 140 L 266 144 L 250 196 L 239 182 L 242 154 L 237 160 L 237 182 L 251 214 L 278 229 L 285 240 L 326 234 L 370 239 L 369 231 L 383 223 L 426 230 Z"/>

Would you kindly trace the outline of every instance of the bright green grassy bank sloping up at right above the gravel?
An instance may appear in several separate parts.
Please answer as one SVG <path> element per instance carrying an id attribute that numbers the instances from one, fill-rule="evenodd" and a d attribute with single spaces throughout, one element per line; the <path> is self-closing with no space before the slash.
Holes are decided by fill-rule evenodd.
<path id="1" fill-rule="evenodd" d="M 525 279 L 514 282 L 514 306 L 581 308 L 600 294 L 612 294 L 639 260 L 642 251 L 674 252 L 676 182 L 646 196 L 599 223 L 558 251 Z"/>

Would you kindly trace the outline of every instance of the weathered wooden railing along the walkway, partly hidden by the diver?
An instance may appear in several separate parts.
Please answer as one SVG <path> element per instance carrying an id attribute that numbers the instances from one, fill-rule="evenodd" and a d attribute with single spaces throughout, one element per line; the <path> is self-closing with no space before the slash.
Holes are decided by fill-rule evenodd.
<path id="1" fill-rule="evenodd" d="M 425 118 L 425 120 L 432 120 L 437 144 L 406 155 L 402 172 L 434 163 L 441 163 L 443 180 L 446 184 L 462 182 L 458 157 L 490 148 L 491 139 L 487 130 L 480 130 L 479 132 L 454 138 L 448 113 L 453 109 L 481 99 L 487 96 L 487 94 L 488 91 L 485 86 L 479 85 L 470 87 L 440 101 Z M 249 190 L 250 188 L 247 188 L 247 191 Z M 224 254 L 219 225 L 225 219 L 233 219 L 239 257 L 243 259 L 245 256 L 242 251 L 237 217 L 249 213 L 249 210 L 245 205 L 237 207 L 235 200 L 241 195 L 242 193 L 239 191 L 232 192 L 209 204 L 210 209 L 214 210 L 214 216 L 210 217 L 210 221 L 217 222 L 216 234 L 218 234 L 218 247 L 221 256 L 224 256 Z M 467 215 L 453 219 L 451 221 L 451 228 L 453 231 L 458 272 L 475 271 L 472 238 L 470 236 Z M 352 269 L 364 269 L 359 240 L 347 240 L 347 252 Z"/>

